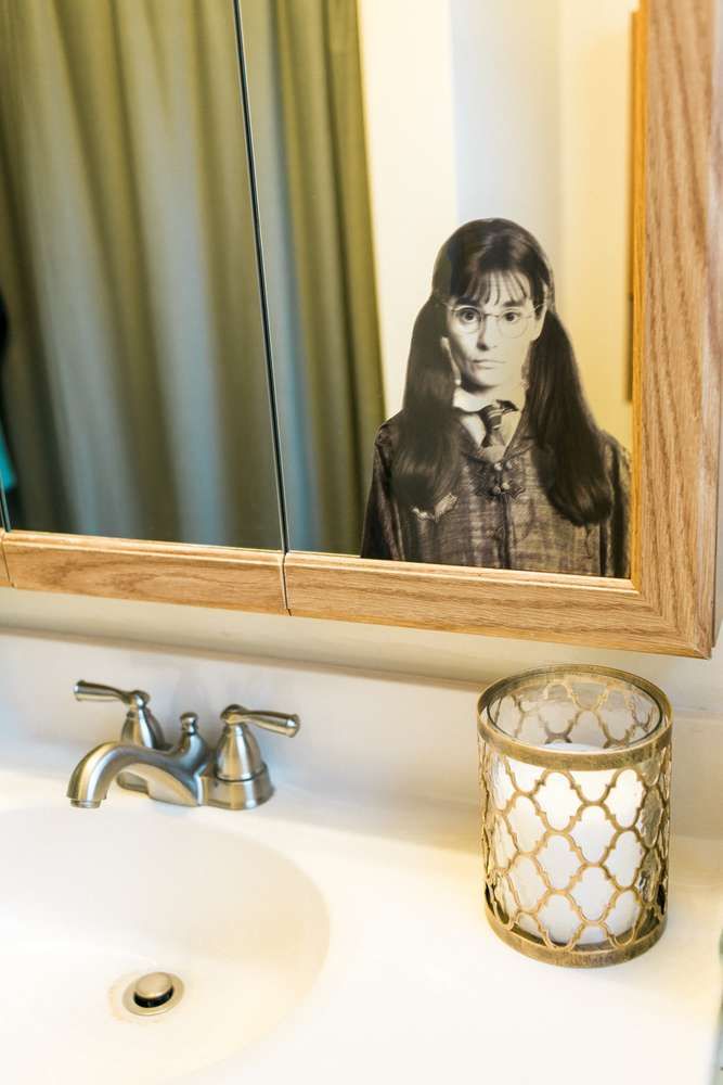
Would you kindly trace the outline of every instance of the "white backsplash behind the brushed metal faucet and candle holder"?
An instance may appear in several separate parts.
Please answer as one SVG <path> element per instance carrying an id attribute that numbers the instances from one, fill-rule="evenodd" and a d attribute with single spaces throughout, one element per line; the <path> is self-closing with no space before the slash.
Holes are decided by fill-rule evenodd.
<path id="1" fill-rule="evenodd" d="M 337 826 L 356 803 L 365 803 L 370 828 L 372 820 L 385 835 L 401 828 L 406 839 L 427 844 L 436 839 L 459 846 L 462 819 L 468 846 L 478 846 L 478 681 L 240 658 L 229 646 L 224 652 L 162 650 L 0 629 L 5 767 L 20 763 L 56 774 L 67 766 L 69 774 L 81 754 L 117 738 L 122 707 L 76 703 L 73 684 L 81 677 L 147 690 L 168 739 L 178 733 L 182 712 L 198 713 L 208 741 L 216 741 L 219 713 L 232 702 L 297 712 L 301 730 L 293 742 L 259 737 L 280 792 L 301 788 L 334 799 Z M 673 830 L 723 835 L 723 728 L 712 717 L 677 710 L 673 766 Z M 385 817 L 385 806 L 399 813 L 411 803 L 406 816 Z"/>

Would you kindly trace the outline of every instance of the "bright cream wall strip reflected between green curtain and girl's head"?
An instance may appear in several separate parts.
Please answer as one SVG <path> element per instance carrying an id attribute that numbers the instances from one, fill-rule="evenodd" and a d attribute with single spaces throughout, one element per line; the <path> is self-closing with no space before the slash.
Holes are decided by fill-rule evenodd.
<path id="1" fill-rule="evenodd" d="M 359 0 L 359 31 L 388 417 L 435 257 L 459 225 L 449 0 Z"/>

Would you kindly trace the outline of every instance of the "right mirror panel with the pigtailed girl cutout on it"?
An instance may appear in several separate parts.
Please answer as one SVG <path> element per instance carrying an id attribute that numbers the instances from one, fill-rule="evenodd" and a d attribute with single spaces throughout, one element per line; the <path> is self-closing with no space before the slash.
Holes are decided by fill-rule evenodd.
<path id="1" fill-rule="evenodd" d="M 240 7 L 291 548 L 627 577 L 633 0 Z"/>

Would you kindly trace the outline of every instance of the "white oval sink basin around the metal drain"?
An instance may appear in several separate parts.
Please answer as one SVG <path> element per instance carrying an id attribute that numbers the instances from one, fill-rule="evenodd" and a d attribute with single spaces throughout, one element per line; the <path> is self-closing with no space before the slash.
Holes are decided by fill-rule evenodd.
<path id="1" fill-rule="evenodd" d="M 8 1085 L 193 1075 L 269 1035 L 324 961 L 324 902 L 281 851 L 193 810 L 114 801 L 0 813 Z M 124 992 L 154 971 L 183 996 L 137 1017 Z"/>

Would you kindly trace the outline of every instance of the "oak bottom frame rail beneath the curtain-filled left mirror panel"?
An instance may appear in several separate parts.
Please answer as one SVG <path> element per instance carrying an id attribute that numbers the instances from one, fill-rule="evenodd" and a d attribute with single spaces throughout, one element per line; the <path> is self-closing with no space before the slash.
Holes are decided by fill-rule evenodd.
<path id="1" fill-rule="evenodd" d="M 282 553 L 10 532 L 10 583 L 35 591 L 286 614 Z"/>

